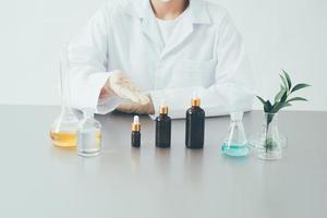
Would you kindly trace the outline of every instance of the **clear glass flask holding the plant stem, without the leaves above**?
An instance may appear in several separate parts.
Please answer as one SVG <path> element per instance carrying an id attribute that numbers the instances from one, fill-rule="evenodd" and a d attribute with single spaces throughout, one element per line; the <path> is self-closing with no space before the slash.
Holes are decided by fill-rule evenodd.
<path id="1" fill-rule="evenodd" d="M 256 149 L 259 159 L 277 160 L 282 157 L 282 141 L 278 132 L 278 113 L 265 113 Z"/>

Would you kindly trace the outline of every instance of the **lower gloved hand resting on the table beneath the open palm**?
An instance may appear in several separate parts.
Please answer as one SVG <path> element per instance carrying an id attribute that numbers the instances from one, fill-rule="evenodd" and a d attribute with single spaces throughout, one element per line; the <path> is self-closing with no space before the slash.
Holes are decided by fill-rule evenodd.
<path id="1" fill-rule="evenodd" d="M 149 98 L 149 97 L 148 97 Z M 137 113 L 137 114 L 154 114 L 155 108 L 152 100 L 147 105 L 140 104 L 122 104 L 118 106 L 118 111 L 125 113 Z"/>

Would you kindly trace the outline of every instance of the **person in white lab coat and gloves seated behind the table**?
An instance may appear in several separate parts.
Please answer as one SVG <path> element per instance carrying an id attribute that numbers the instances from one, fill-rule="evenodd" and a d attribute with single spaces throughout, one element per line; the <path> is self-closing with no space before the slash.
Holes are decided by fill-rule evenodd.
<path id="1" fill-rule="evenodd" d="M 69 47 L 72 105 L 184 118 L 251 110 L 252 78 L 228 12 L 205 0 L 109 0 Z"/>

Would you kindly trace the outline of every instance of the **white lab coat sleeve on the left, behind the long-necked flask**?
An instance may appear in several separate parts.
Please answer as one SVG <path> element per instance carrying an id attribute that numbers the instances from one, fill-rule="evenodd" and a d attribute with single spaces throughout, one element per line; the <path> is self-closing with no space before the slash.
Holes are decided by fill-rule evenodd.
<path id="1" fill-rule="evenodd" d="M 106 65 L 110 31 L 106 10 L 107 7 L 99 10 L 69 47 L 72 107 L 94 108 L 97 113 L 108 113 L 122 101 L 119 97 L 99 99 L 110 77 Z"/>

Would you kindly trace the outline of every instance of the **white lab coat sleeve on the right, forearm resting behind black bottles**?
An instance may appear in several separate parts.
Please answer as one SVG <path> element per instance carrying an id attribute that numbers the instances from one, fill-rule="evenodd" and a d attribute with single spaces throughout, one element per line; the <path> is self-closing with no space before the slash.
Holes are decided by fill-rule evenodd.
<path id="1" fill-rule="evenodd" d="M 228 114 L 230 111 L 249 111 L 254 99 L 252 76 L 249 61 L 240 34 L 227 15 L 218 27 L 215 56 L 218 63 L 215 83 L 209 87 L 186 87 L 150 92 L 152 100 L 158 114 L 160 99 L 170 106 L 170 117 L 185 118 L 192 94 L 202 99 L 206 117 Z M 153 116 L 155 117 L 155 116 Z"/>

